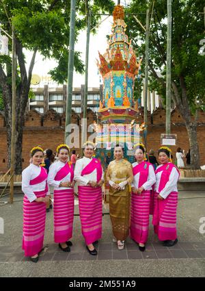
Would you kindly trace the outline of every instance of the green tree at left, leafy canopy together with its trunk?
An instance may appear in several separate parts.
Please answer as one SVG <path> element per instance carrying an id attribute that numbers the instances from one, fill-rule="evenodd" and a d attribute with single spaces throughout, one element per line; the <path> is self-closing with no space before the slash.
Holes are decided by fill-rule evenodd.
<path id="1" fill-rule="evenodd" d="M 111 12 L 113 1 L 90 1 L 94 14 Z M 76 40 L 81 29 L 86 27 L 84 1 L 77 0 Z M 100 16 L 92 19 L 96 25 Z M 58 66 L 51 72 L 53 79 L 63 83 L 67 80 L 70 0 L 0 0 L 0 21 L 2 28 L 12 35 L 14 25 L 18 72 L 16 73 L 16 146 L 15 173 L 22 170 L 23 116 L 29 97 L 31 74 L 39 51 L 44 58 L 53 58 Z M 12 44 L 9 43 L 11 52 Z M 24 49 L 33 51 L 29 70 L 26 70 Z M 5 125 L 7 128 L 8 166 L 10 166 L 10 144 L 12 126 L 12 60 L 10 56 L 0 56 L 0 87 L 2 88 Z M 74 68 L 83 73 L 84 66 L 80 53 L 75 52 Z"/>

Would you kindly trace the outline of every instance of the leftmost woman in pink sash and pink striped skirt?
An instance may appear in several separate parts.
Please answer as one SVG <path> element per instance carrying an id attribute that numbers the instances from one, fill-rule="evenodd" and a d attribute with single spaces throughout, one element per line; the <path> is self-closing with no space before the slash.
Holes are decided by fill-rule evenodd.
<path id="1" fill-rule="evenodd" d="M 42 251 L 46 222 L 46 202 L 49 201 L 47 172 L 40 164 L 44 157 L 43 149 L 31 149 L 31 164 L 22 172 L 23 198 L 23 244 L 25 256 L 38 262 Z"/>

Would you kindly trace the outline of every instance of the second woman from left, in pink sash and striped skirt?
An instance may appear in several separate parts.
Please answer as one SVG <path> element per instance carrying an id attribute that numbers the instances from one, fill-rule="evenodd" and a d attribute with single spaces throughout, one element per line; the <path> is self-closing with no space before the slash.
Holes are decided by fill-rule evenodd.
<path id="1" fill-rule="evenodd" d="M 59 144 L 56 151 L 59 160 L 50 166 L 48 177 L 49 185 L 54 187 L 54 241 L 62 251 L 69 252 L 74 218 L 74 170 L 72 163 L 68 162 L 67 144 Z"/>

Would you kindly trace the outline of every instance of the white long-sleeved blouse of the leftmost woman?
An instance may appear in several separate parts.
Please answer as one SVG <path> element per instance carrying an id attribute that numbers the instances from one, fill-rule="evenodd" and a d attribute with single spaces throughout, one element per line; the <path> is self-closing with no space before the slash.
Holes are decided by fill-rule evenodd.
<path id="1" fill-rule="evenodd" d="M 46 180 L 38 183 L 36 185 L 29 185 L 30 181 L 35 179 L 40 175 L 41 166 L 36 166 L 30 164 L 27 168 L 25 168 L 22 172 L 22 191 L 26 195 L 29 202 L 32 202 L 37 199 L 34 192 L 43 191 L 46 188 Z M 49 195 L 49 190 L 46 195 Z"/>

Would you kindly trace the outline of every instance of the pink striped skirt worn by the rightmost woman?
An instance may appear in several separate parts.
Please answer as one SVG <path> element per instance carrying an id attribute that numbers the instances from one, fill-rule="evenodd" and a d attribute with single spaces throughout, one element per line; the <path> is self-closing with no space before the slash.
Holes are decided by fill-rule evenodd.
<path id="1" fill-rule="evenodd" d="M 159 193 L 154 192 L 154 215 L 152 224 L 154 232 L 159 240 L 175 240 L 176 233 L 176 209 L 178 204 L 178 192 L 171 192 L 165 200 L 157 199 Z"/>

